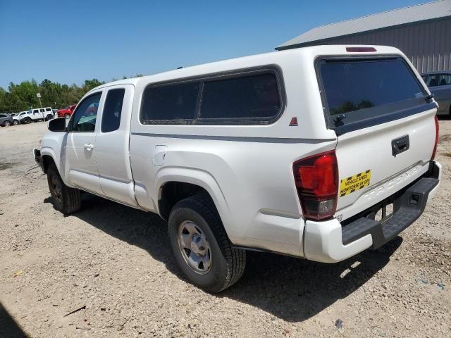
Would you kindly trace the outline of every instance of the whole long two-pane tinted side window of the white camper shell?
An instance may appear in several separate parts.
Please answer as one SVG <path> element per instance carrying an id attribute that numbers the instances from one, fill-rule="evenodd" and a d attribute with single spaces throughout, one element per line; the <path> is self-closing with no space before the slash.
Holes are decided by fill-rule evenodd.
<path id="1" fill-rule="evenodd" d="M 283 86 L 278 71 L 266 67 L 150 84 L 142 96 L 141 120 L 147 124 L 271 123 L 283 109 Z"/>

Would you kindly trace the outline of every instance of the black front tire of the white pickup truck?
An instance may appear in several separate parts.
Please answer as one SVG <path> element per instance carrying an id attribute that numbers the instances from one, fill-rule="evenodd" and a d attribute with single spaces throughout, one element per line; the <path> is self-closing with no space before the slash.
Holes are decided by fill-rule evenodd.
<path id="1" fill-rule="evenodd" d="M 56 210 L 64 214 L 75 213 L 80 210 L 80 190 L 66 186 L 54 164 L 51 164 L 47 170 L 47 182 Z"/>

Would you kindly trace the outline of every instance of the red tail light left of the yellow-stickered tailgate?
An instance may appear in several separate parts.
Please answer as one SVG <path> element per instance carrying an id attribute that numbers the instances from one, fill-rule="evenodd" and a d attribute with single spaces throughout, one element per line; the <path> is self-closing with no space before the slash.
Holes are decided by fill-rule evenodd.
<path id="1" fill-rule="evenodd" d="M 304 217 L 331 218 L 337 208 L 338 162 L 335 151 L 302 158 L 293 164 L 297 195 Z"/>

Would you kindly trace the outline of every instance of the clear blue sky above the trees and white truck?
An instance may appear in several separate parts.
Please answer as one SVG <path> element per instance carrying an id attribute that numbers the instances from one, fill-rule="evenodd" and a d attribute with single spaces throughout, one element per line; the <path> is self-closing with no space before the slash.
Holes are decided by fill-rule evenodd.
<path id="1" fill-rule="evenodd" d="M 0 0 L 0 87 L 149 75 L 273 51 L 327 23 L 415 0 Z"/>

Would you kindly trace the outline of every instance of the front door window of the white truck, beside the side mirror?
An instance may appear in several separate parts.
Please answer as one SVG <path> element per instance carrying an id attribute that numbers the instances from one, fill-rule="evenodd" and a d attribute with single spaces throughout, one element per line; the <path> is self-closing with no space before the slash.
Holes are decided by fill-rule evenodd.
<path id="1" fill-rule="evenodd" d="M 82 101 L 68 125 L 70 132 L 94 132 L 100 97 L 101 92 L 92 94 Z"/>

